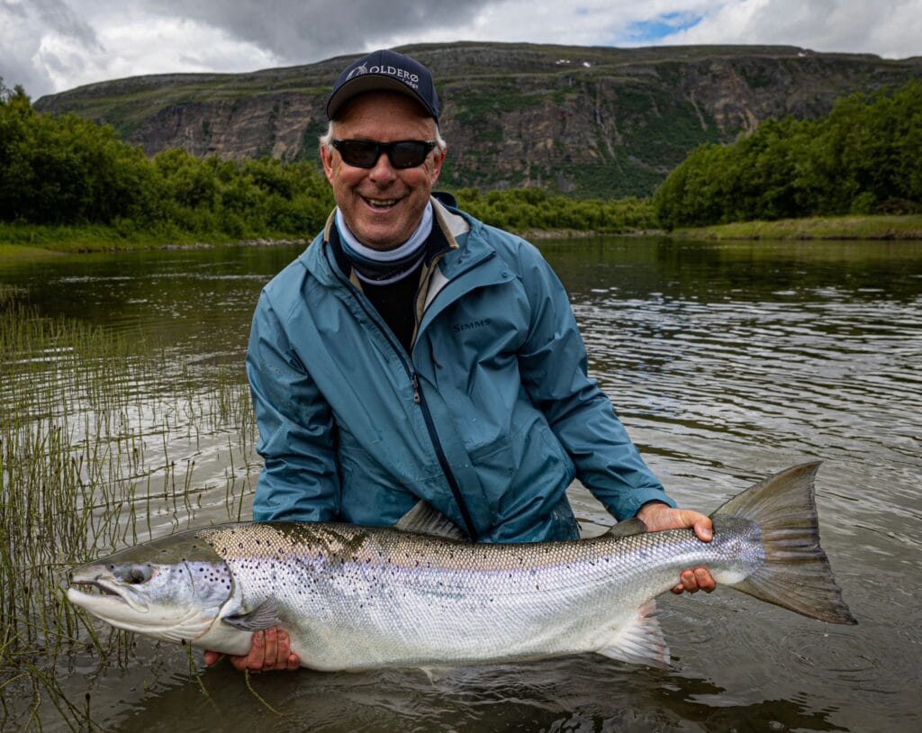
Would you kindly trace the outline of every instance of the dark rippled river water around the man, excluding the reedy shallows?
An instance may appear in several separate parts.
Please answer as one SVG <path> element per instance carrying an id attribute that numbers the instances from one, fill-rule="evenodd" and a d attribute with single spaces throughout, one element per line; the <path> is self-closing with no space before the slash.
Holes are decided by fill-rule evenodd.
<path id="1" fill-rule="evenodd" d="M 922 242 L 540 246 L 570 291 L 590 371 L 680 504 L 710 512 L 777 470 L 823 461 L 823 547 L 859 624 L 721 589 L 660 599 L 666 672 L 587 655 L 431 676 L 301 670 L 254 676 L 252 690 L 226 666 L 200 684 L 176 647 L 138 640 L 123 667 L 69 683 L 92 693 L 101 726 L 922 729 Z M 81 255 L 0 263 L 0 282 L 42 313 L 155 338 L 239 374 L 259 290 L 296 254 Z M 610 524 L 582 487 L 572 496 L 587 534 Z M 212 518 L 226 516 L 195 521 Z M 53 710 L 44 724 L 63 727 Z"/>

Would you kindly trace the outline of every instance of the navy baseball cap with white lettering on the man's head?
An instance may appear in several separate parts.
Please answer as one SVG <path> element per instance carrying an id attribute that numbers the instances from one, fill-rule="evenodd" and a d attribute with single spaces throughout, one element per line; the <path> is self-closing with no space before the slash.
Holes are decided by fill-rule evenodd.
<path id="1" fill-rule="evenodd" d="M 379 90 L 412 97 L 435 122 L 439 121 L 439 95 L 429 69 L 403 53 L 386 49 L 369 53 L 346 67 L 326 100 L 326 116 L 333 120 L 343 104 L 357 94 Z"/>

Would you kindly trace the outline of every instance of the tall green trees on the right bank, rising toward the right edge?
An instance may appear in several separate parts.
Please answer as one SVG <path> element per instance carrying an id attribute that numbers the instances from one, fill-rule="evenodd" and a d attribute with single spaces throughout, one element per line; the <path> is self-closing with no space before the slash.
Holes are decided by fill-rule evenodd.
<path id="1" fill-rule="evenodd" d="M 838 100 L 826 117 L 766 120 L 703 145 L 654 195 L 667 228 L 922 211 L 922 83 Z"/>

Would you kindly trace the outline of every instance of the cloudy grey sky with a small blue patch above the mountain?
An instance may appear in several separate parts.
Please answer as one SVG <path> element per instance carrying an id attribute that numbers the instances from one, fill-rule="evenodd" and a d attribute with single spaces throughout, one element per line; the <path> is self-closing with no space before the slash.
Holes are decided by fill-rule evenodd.
<path id="1" fill-rule="evenodd" d="M 430 41 L 781 43 L 922 55 L 922 0 L 0 0 L 0 77 L 240 72 Z"/>

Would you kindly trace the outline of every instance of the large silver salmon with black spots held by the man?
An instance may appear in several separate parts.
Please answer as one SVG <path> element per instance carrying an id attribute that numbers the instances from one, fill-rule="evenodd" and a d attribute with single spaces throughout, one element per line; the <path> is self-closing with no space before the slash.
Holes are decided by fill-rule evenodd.
<path id="1" fill-rule="evenodd" d="M 691 530 L 646 532 L 639 520 L 597 538 L 505 545 L 346 524 L 237 523 L 77 568 L 67 597 L 113 626 L 236 655 L 254 631 L 276 625 L 315 669 L 578 652 L 665 667 L 654 598 L 690 567 L 811 618 L 856 622 L 820 547 L 818 466 L 788 468 L 725 503 L 707 543 Z"/>

